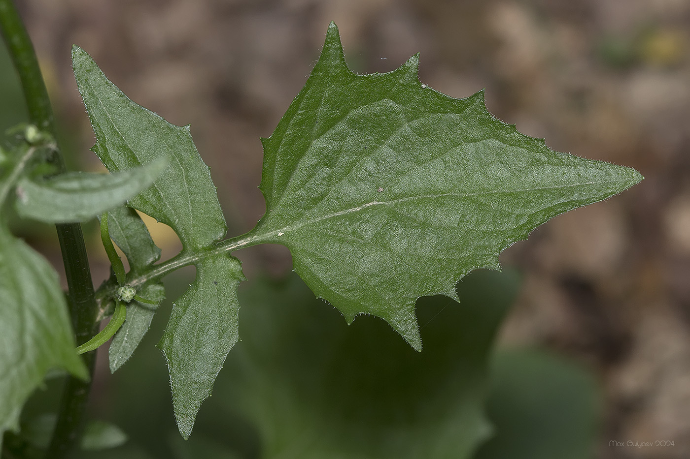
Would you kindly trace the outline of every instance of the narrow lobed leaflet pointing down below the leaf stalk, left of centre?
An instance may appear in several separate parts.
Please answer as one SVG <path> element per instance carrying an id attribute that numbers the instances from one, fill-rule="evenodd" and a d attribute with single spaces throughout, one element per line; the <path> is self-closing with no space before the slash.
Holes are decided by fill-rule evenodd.
<path id="1" fill-rule="evenodd" d="M 201 402 L 238 339 L 237 286 L 242 267 L 227 254 L 208 256 L 197 264 L 197 278 L 172 306 L 158 347 L 170 371 L 172 407 L 184 438 L 192 433 Z"/>

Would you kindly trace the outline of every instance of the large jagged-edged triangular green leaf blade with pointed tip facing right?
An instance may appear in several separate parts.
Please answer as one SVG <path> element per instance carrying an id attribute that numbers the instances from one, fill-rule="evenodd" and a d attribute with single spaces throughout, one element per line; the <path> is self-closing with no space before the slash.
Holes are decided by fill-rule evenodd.
<path id="1" fill-rule="evenodd" d="M 549 218 L 638 183 L 635 170 L 549 150 L 493 118 L 482 92 L 453 99 L 418 57 L 357 75 L 331 23 L 304 88 L 264 143 L 266 214 L 253 237 L 351 323 L 384 318 L 421 349 L 415 300 L 455 296 L 472 269 Z"/>

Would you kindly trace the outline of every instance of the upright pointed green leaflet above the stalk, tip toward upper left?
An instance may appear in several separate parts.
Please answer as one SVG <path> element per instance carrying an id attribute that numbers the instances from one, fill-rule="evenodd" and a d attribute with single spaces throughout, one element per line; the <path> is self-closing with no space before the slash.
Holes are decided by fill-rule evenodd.
<path id="1" fill-rule="evenodd" d="M 208 166 L 201 161 L 189 126 L 181 128 L 137 105 L 101 72 L 81 48 L 72 48 L 79 92 L 96 134 L 93 151 L 110 172 L 161 156 L 168 168 L 128 203 L 172 227 L 184 247 L 195 249 L 226 233 Z"/>

